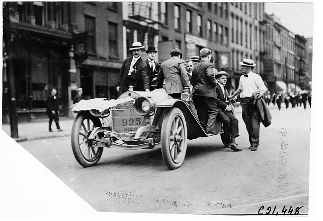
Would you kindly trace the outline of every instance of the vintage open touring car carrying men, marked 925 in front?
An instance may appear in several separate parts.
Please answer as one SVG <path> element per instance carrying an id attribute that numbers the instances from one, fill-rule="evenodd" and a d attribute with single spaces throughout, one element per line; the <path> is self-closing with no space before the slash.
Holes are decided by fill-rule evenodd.
<path id="1" fill-rule="evenodd" d="M 81 100 L 70 107 L 79 111 L 71 134 L 76 160 L 87 167 L 98 163 L 104 148 L 161 148 L 165 165 L 180 167 L 187 139 L 208 136 L 190 110 L 190 99 L 188 91 L 181 99 L 173 99 L 163 89 L 142 92 L 130 88 L 117 100 Z M 214 130 L 228 143 L 221 122 L 216 122 Z"/>

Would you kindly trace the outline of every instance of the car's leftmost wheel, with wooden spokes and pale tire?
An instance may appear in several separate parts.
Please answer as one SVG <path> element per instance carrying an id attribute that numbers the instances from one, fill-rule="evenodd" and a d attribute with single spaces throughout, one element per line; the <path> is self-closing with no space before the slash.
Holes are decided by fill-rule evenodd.
<path id="1" fill-rule="evenodd" d="M 72 126 L 71 142 L 73 154 L 81 166 L 88 167 L 97 164 L 103 152 L 102 147 L 96 147 L 95 141 L 86 138 L 95 127 L 102 126 L 98 117 L 90 114 L 89 111 L 81 111 L 75 118 Z M 102 132 L 95 138 L 99 139 Z"/>

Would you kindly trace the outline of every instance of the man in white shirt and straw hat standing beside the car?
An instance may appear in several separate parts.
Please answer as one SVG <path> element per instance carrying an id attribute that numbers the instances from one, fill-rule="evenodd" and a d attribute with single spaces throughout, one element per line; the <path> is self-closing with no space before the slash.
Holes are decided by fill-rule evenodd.
<path id="1" fill-rule="evenodd" d="M 228 98 L 231 99 L 242 93 L 242 119 L 249 134 L 249 149 L 256 151 L 259 145 L 261 117 L 259 110 L 254 108 L 255 101 L 252 94 L 258 92 L 257 98 L 262 97 L 266 93 L 266 86 L 260 75 L 251 71 L 256 66 L 253 60 L 245 58 L 240 65 L 243 75 L 240 77 L 238 90 Z"/>

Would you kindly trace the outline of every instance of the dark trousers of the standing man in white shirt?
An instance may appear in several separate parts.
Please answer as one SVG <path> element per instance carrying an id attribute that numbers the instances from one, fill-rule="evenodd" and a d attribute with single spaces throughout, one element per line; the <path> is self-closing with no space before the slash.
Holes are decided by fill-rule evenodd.
<path id="1" fill-rule="evenodd" d="M 260 114 L 253 102 L 243 101 L 242 119 L 249 135 L 249 143 L 252 146 L 259 145 Z"/>

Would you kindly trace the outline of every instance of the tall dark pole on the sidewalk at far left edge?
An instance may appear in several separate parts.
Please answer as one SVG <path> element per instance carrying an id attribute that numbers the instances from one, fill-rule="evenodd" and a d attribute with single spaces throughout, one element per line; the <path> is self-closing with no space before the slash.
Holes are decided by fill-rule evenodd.
<path id="1" fill-rule="evenodd" d="M 11 27 L 10 22 L 10 8 L 8 2 L 5 3 L 3 8 L 3 31 L 4 31 L 4 44 L 5 50 L 7 53 L 6 59 L 6 70 L 8 76 L 8 91 L 9 91 L 9 120 L 10 120 L 10 131 L 12 138 L 18 138 L 18 118 L 17 118 L 17 108 L 16 108 L 16 98 L 14 90 L 14 75 L 13 75 L 13 55 L 12 55 L 12 46 L 13 46 L 13 33 L 14 27 Z M 14 12 L 13 12 L 14 13 Z M 16 25 L 16 23 L 12 23 Z"/>

